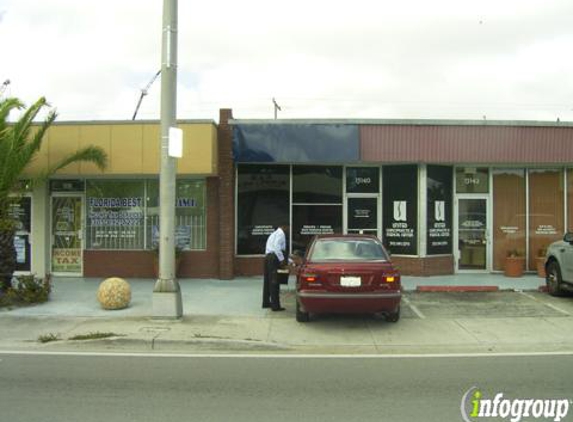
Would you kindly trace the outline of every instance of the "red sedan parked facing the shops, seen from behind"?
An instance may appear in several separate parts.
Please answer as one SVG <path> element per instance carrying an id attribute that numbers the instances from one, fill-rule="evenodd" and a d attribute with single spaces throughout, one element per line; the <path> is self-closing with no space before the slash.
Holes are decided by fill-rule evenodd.
<path id="1" fill-rule="evenodd" d="M 382 242 L 368 235 L 320 235 L 297 272 L 296 320 L 311 313 L 375 313 L 400 319 L 400 274 Z"/>

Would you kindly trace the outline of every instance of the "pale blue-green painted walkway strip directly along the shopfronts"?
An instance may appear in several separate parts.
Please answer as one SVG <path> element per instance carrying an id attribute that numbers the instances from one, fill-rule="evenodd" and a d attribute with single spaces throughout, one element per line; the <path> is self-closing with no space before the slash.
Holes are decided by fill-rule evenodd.
<path id="1" fill-rule="evenodd" d="M 67 317 L 144 317 L 151 315 L 154 279 L 127 279 L 131 286 L 129 308 L 106 311 L 96 299 L 100 278 L 55 278 L 50 301 L 28 308 L 10 311 L 12 316 L 67 316 Z M 262 277 L 242 277 L 233 280 L 182 279 L 179 281 L 186 315 L 264 316 L 261 309 Z M 436 277 L 402 277 L 406 291 L 434 286 L 449 286 L 458 290 L 468 287 L 497 287 L 499 290 L 538 290 L 545 280 L 527 275 L 508 278 L 502 274 L 464 274 Z M 294 277 L 282 294 L 294 295 Z M 0 316 L 2 311 L 0 311 Z"/>

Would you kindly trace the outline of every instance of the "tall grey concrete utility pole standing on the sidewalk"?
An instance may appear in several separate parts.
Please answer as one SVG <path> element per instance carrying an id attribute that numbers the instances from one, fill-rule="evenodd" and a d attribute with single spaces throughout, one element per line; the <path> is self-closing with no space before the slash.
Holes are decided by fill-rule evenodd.
<path id="1" fill-rule="evenodd" d="M 169 129 L 177 116 L 177 0 L 163 0 L 161 44 L 161 171 L 159 176 L 159 278 L 153 289 L 153 316 L 183 316 L 181 288 L 175 278 L 175 177 L 169 156 Z"/>

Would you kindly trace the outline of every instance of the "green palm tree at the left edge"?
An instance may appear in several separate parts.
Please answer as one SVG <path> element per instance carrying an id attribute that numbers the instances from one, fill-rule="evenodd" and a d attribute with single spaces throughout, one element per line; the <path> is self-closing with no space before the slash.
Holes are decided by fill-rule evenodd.
<path id="1" fill-rule="evenodd" d="M 54 110 L 49 110 L 41 123 L 34 124 L 36 117 L 45 108 L 49 108 L 49 104 L 44 97 L 28 109 L 17 98 L 0 101 L 0 290 L 11 286 L 16 269 L 15 221 L 10 215 L 10 209 L 20 200 L 24 171 L 34 160 L 46 131 L 57 116 Z M 18 119 L 13 123 L 8 122 L 10 113 L 20 110 L 24 111 Z M 94 163 L 103 170 L 107 165 L 107 154 L 101 148 L 83 148 L 46 168 L 33 181 L 46 180 L 58 170 L 78 161 Z"/>

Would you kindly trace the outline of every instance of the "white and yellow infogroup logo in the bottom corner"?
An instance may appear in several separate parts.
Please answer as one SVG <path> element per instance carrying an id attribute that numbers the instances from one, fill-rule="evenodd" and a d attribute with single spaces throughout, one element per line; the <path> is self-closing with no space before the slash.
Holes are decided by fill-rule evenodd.
<path id="1" fill-rule="evenodd" d="M 486 398 L 478 387 L 472 387 L 462 397 L 460 411 L 465 422 L 487 418 L 511 422 L 548 420 L 559 422 L 569 413 L 569 399 L 510 399 L 503 393 Z"/>

